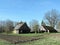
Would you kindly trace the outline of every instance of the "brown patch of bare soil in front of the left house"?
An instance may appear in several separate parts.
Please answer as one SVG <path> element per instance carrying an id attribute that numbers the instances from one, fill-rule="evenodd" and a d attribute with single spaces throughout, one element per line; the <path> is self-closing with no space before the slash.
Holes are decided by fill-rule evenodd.
<path id="1" fill-rule="evenodd" d="M 4 40 L 9 41 L 14 44 L 34 41 L 34 40 L 38 40 L 40 38 L 42 38 L 42 36 L 26 37 L 26 36 L 13 36 L 13 35 L 0 34 L 0 39 L 4 39 Z"/>

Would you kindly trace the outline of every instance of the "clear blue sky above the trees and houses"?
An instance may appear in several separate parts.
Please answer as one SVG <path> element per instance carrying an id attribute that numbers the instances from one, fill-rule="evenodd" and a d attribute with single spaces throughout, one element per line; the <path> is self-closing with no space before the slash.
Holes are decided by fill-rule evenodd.
<path id="1" fill-rule="evenodd" d="M 59 0 L 0 0 L 0 20 L 41 22 L 45 13 L 51 9 L 60 12 Z"/>

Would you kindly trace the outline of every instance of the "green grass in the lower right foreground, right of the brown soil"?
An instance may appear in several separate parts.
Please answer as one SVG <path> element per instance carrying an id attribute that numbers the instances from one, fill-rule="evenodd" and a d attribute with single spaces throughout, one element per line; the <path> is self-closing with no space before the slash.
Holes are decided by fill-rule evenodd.
<path id="1" fill-rule="evenodd" d="M 47 34 L 46 34 L 47 35 Z M 60 35 L 59 34 L 48 34 L 43 39 L 37 41 L 22 43 L 20 45 L 60 45 Z"/>

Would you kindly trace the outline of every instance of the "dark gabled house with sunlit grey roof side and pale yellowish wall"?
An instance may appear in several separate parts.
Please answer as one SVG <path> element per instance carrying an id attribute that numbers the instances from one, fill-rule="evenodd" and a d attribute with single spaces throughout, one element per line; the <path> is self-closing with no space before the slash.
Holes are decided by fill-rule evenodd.
<path id="1" fill-rule="evenodd" d="M 18 23 L 13 31 L 13 33 L 17 33 L 17 34 L 29 33 L 29 32 L 30 32 L 30 28 L 27 26 L 25 22 Z"/>

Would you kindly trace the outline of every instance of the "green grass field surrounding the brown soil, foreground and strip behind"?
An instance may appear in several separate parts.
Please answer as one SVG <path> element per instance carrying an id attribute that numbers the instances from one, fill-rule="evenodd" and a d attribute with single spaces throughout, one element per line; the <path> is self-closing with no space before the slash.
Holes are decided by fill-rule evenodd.
<path id="1" fill-rule="evenodd" d="M 20 36 L 37 36 L 39 34 L 20 34 Z M 42 35 L 42 34 L 40 34 Z M 50 33 L 50 34 L 43 34 L 44 38 L 36 40 L 36 41 L 31 41 L 31 42 L 25 42 L 25 43 L 20 43 L 17 45 L 60 45 L 60 33 Z M 15 45 L 11 44 L 7 41 L 0 40 L 0 45 Z"/>

